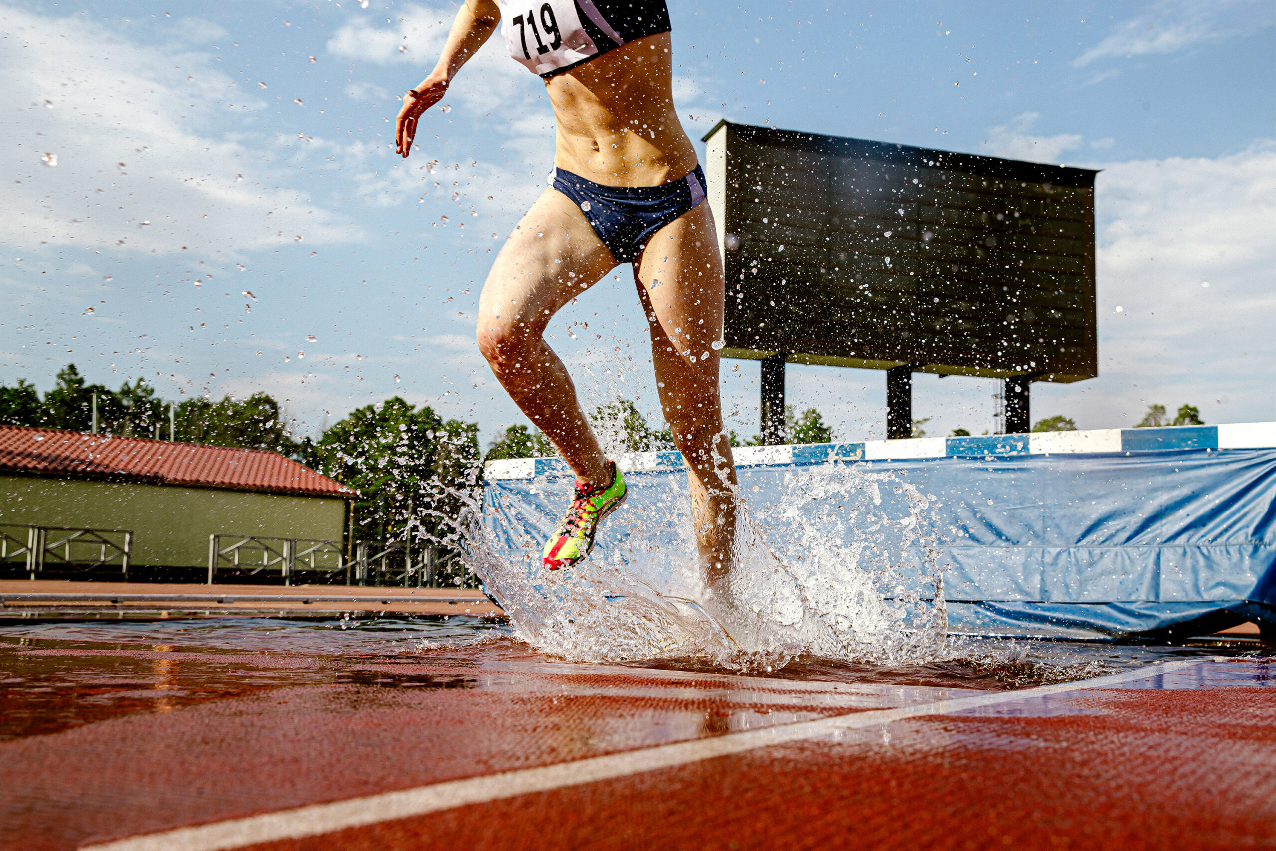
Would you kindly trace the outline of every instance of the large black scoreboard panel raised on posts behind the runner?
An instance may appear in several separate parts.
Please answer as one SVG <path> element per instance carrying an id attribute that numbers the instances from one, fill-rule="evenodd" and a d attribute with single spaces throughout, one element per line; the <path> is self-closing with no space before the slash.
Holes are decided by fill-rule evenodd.
<path id="1" fill-rule="evenodd" d="M 704 140 L 723 356 L 1099 374 L 1097 172 L 727 121 Z"/>

